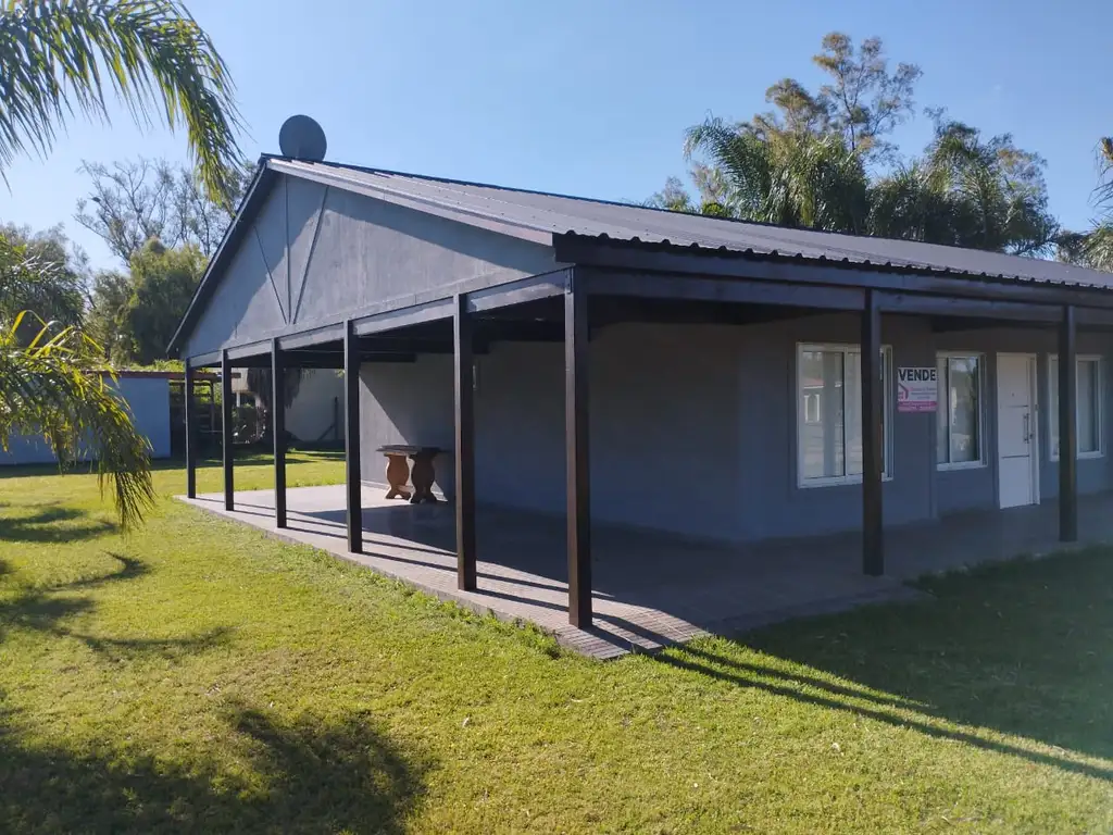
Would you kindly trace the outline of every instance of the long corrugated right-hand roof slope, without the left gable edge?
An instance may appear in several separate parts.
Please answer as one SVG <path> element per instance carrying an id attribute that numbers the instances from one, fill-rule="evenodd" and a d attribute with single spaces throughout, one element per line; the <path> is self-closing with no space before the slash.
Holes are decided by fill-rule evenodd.
<path id="1" fill-rule="evenodd" d="M 1041 258 L 726 220 L 333 163 L 270 158 L 267 165 L 274 170 L 328 180 L 342 188 L 374 194 L 383 199 L 532 240 L 571 233 L 637 242 L 654 248 L 668 245 L 683 247 L 688 252 L 692 247 L 727 249 L 761 257 L 823 258 L 851 268 L 859 265 L 887 266 L 978 278 L 1113 289 L 1113 274 Z"/>

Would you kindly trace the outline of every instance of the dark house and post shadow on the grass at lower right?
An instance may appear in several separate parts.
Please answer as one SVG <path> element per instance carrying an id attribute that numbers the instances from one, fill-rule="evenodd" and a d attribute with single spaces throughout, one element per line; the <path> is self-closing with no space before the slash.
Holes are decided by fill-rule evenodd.
<path id="1" fill-rule="evenodd" d="M 1018 560 L 924 580 L 933 599 L 769 627 L 738 642 L 823 671 L 735 657 L 730 644 L 659 656 L 673 667 L 1113 780 L 1113 553 Z M 721 649 L 720 649 L 721 647 Z M 1080 763 L 964 730 L 1025 737 Z"/>

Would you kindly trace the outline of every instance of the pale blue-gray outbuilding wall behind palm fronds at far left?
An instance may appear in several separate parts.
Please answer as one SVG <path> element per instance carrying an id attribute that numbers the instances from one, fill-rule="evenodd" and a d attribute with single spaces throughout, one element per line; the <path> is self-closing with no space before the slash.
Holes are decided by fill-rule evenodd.
<path id="1" fill-rule="evenodd" d="M 142 369 L 116 373 L 115 385 L 136 429 L 150 444 L 151 458 L 170 456 L 170 383 L 181 376 L 181 372 Z M 50 444 L 39 435 L 10 438 L 7 451 L 0 450 L 0 466 L 56 462 Z"/>

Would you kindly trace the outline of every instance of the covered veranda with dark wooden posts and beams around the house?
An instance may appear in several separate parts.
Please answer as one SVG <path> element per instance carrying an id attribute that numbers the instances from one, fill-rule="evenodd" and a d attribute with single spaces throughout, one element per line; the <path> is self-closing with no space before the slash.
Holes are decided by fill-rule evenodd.
<path id="1" fill-rule="evenodd" d="M 881 323 L 885 316 L 895 314 L 927 317 L 939 328 L 954 328 L 956 323 L 964 328 L 999 326 L 1002 323 L 1050 328 L 1057 335 L 1061 362 L 1071 367 L 1081 328 L 1113 326 L 1113 294 L 1097 287 L 975 277 L 916 267 L 843 264 L 823 258 L 785 258 L 668 244 L 646 245 L 574 234 L 554 235 L 553 239 L 556 262 L 574 266 L 494 286 L 477 281 L 460 282 L 444 289 L 383 303 L 374 310 L 353 311 L 351 317 L 342 323 L 284 332 L 266 341 L 224 348 L 218 354 L 187 357 L 187 374 L 213 365 L 219 365 L 224 371 L 225 490 L 220 499 L 221 512 L 244 521 L 250 521 L 253 517 L 265 518 L 267 524 L 295 539 L 316 537 L 319 540 L 316 544 L 334 551 L 337 550 L 335 543 L 327 544 L 326 538 L 332 538 L 328 542 L 334 541 L 338 525 L 343 524 L 345 556 L 395 576 L 397 571 L 388 570 L 386 563 L 372 562 L 377 552 L 375 549 L 384 547 L 381 537 L 391 539 L 386 543 L 390 548 L 401 549 L 402 559 L 408 559 L 406 549 L 425 549 L 427 553 L 432 544 L 437 551 L 437 567 L 430 570 L 435 570 L 441 579 L 429 583 L 413 578 L 408 580 L 431 589 L 442 588 L 446 568 L 444 559 L 449 559 L 449 567 L 454 568 L 454 587 L 460 592 L 460 599 L 465 601 L 473 597 L 494 598 L 499 593 L 511 593 L 496 584 L 510 580 L 492 576 L 492 567 L 516 570 L 514 566 L 518 561 L 533 559 L 533 554 L 536 559 L 548 554 L 543 571 L 526 569 L 520 578 L 523 587 L 548 582 L 544 600 L 538 598 L 535 602 L 523 603 L 543 609 L 546 613 L 539 611 L 536 617 L 528 619 L 544 625 L 552 625 L 553 618 L 567 619 L 572 627 L 587 633 L 591 633 L 593 626 L 607 631 L 607 623 L 623 618 L 630 620 L 626 610 L 604 611 L 610 601 L 615 601 L 621 606 L 643 606 L 647 610 L 683 621 L 687 626 L 677 626 L 679 639 L 687 633 L 684 630 L 703 629 L 731 619 L 745 620 L 765 610 L 814 606 L 818 599 L 816 595 L 804 595 L 806 599 L 796 600 L 786 592 L 780 598 L 774 596 L 777 599 L 772 607 L 762 609 L 761 602 L 740 603 L 731 613 L 716 608 L 703 597 L 703 591 L 699 591 L 692 596 L 699 599 L 695 608 L 683 611 L 689 615 L 703 611 L 702 616 L 693 615 L 689 619 L 672 615 L 670 608 L 677 607 L 668 603 L 669 596 L 681 588 L 688 572 L 693 571 L 697 563 L 700 566 L 697 573 L 703 578 L 700 588 L 721 588 L 726 597 L 741 599 L 739 596 L 747 593 L 746 589 L 752 591 L 761 583 L 774 589 L 777 583 L 785 583 L 787 587 L 798 586 L 801 590 L 829 584 L 838 592 L 829 596 L 831 599 L 855 599 L 860 595 L 869 597 L 878 589 L 892 587 L 902 577 L 920 572 L 912 571 L 906 566 L 924 570 L 945 568 L 952 559 L 951 552 L 963 557 L 961 562 L 965 563 L 1013 556 L 1022 550 L 1038 550 L 1037 544 L 1043 548 L 1048 541 L 1074 542 L 1080 539 L 1074 420 L 1076 380 L 1073 374 L 1062 374 L 1058 379 L 1060 498 L 1054 504 L 1025 509 L 1024 512 L 1031 514 L 1033 520 L 1040 520 L 1025 540 L 1031 548 L 1016 548 L 1017 543 L 1005 537 L 979 557 L 977 547 L 963 548 L 962 537 L 955 536 L 955 529 L 938 524 L 928 528 L 938 537 L 948 533 L 954 537 L 949 546 L 939 540 L 937 548 L 932 549 L 938 553 L 948 552 L 938 566 L 928 564 L 923 558 L 906 559 L 899 556 L 900 551 L 886 547 L 881 507 L 885 475 Z M 627 531 L 623 533 L 627 539 L 619 537 L 623 544 L 617 546 L 613 544 L 618 541 L 614 538 L 617 534 L 604 527 L 592 525 L 588 369 L 593 333 L 623 322 L 745 325 L 833 311 L 853 313 L 860 323 L 863 478 L 859 533 L 814 540 L 806 546 L 795 542 L 790 546 L 768 543 L 742 548 L 697 547 L 690 542 L 680 546 L 676 540 L 657 534 L 646 536 L 641 541 L 638 540 L 641 534 Z M 554 523 L 551 519 L 543 523 L 535 520 L 529 522 L 525 527 L 534 531 L 534 536 L 529 543 L 520 542 L 515 547 L 514 531 L 521 530 L 522 525 L 512 519 L 514 514 L 481 511 L 477 507 L 473 358 L 500 341 L 531 340 L 562 341 L 564 345 L 567 511 L 562 522 Z M 374 374 L 378 363 L 412 362 L 422 353 L 451 353 L 454 357 L 453 502 L 451 508 L 383 509 L 376 502 L 368 502 L 361 472 L 359 370 L 367 367 Z M 346 484 L 343 520 L 336 518 L 339 509 L 334 507 L 337 503 L 335 493 L 327 499 L 308 499 L 303 493 L 287 495 L 280 410 L 275 415 L 273 432 L 275 489 L 268 493 L 269 500 L 263 494 L 236 493 L 229 438 L 230 370 L 248 365 L 265 365 L 273 370 L 275 403 L 284 400 L 282 386 L 286 367 L 336 367 L 345 371 Z M 211 505 L 211 498 L 201 500 L 196 494 L 191 416 L 187 415 L 187 494 L 191 500 Z M 1048 520 L 1048 513 L 1054 515 L 1053 520 Z M 322 514 L 327 514 L 327 518 Z M 995 513 L 991 520 L 988 514 L 983 514 L 975 527 L 989 525 L 987 530 L 996 530 L 1004 525 L 1007 529 L 1015 515 Z M 1093 517 L 1099 519 L 1102 514 L 1095 510 Z M 1053 521 L 1051 528 L 1048 521 Z M 426 522 L 430 534 L 435 531 L 432 543 L 422 540 L 422 531 L 425 530 L 422 524 Z M 382 524 L 387 525 L 386 530 L 382 529 Z M 1100 527 L 1095 522 L 1093 530 L 1084 531 L 1085 537 L 1104 538 Z M 408 533 L 395 536 L 391 530 Z M 670 542 L 671 546 L 668 544 Z M 827 554 L 824 560 L 805 561 L 795 570 L 789 570 L 796 559 L 794 554 L 818 553 L 821 542 L 825 542 L 821 550 Z M 640 561 L 634 563 L 614 556 L 647 548 L 659 556 L 652 564 L 662 567 L 661 572 L 647 571 Z M 700 548 L 719 556 L 702 562 L 690 559 Z M 768 550 L 777 548 L 788 550 Z M 778 559 L 770 560 L 770 553 L 779 554 Z M 723 554 L 729 554 L 730 559 Z M 554 559 L 563 563 L 562 572 L 554 570 Z M 853 568 L 847 571 L 851 563 Z M 752 570 L 743 570 L 747 564 Z M 728 579 L 732 577 L 739 578 L 737 583 Z M 845 587 L 840 584 L 844 581 Z M 609 590 L 608 586 L 619 591 Z M 627 595 L 623 589 L 640 591 Z M 846 593 L 841 593 L 844 589 Z M 649 595 L 650 603 L 639 603 L 646 595 Z M 679 597 L 683 598 L 683 595 Z M 563 602 L 560 602 L 561 599 Z M 502 611 L 495 606 L 484 606 Z M 597 611 L 600 618 L 593 622 Z M 509 617 L 516 616 L 510 612 Z M 637 621 L 631 623 L 638 626 Z M 662 635 L 672 628 L 666 628 L 664 621 L 658 626 L 662 628 Z M 641 626 L 638 628 L 642 629 Z M 623 631 L 614 632 L 620 636 L 620 641 L 637 644 L 630 638 L 637 630 L 620 629 Z"/>

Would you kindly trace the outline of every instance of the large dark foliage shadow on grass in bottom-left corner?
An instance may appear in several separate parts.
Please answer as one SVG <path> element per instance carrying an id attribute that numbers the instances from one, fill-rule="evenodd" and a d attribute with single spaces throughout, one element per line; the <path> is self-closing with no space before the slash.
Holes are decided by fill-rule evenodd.
<path id="1" fill-rule="evenodd" d="M 284 721 L 232 704 L 221 746 L 250 765 L 226 773 L 204 752 L 90 752 L 26 745 L 0 701 L 0 816 L 19 832 L 352 832 L 401 835 L 430 763 L 403 752 L 374 717 Z"/>

